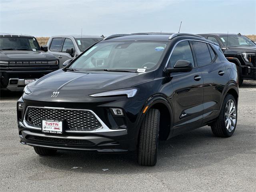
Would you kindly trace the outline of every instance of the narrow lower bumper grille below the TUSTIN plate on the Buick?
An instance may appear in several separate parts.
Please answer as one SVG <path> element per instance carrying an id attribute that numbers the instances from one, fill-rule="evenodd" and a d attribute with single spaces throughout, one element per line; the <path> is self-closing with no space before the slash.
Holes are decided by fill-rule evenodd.
<path id="1" fill-rule="evenodd" d="M 41 136 L 26 136 L 26 140 L 34 141 L 34 142 L 41 142 L 41 143 L 48 143 L 48 144 L 64 144 L 64 145 L 86 145 L 92 146 L 94 145 L 93 142 L 88 140 L 81 140 L 81 139 L 64 139 L 64 138 L 50 138 L 50 137 L 41 137 Z"/>

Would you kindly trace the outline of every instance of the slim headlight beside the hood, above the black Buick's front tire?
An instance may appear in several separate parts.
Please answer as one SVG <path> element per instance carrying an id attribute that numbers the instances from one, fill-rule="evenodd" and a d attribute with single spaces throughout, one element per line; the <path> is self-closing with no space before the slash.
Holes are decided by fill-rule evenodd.
<path id="1" fill-rule="evenodd" d="M 106 91 L 102 93 L 96 93 L 90 95 L 91 97 L 104 97 L 104 96 L 118 96 L 118 95 L 126 95 L 127 98 L 134 97 L 138 89 L 119 89 L 114 91 Z"/>

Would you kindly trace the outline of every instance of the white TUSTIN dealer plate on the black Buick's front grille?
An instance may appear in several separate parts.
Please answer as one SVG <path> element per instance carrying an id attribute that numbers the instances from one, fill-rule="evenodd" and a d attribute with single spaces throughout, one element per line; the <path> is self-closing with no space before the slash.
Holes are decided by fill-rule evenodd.
<path id="1" fill-rule="evenodd" d="M 62 131 L 63 131 L 63 121 L 49 120 L 49 119 L 42 120 L 42 132 L 62 134 Z"/>

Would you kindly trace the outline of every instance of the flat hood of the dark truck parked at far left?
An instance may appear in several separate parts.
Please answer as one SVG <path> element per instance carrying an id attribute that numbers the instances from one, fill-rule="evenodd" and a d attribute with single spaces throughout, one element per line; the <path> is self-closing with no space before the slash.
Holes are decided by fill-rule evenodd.
<path id="1" fill-rule="evenodd" d="M 42 61 L 42 60 L 57 60 L 54 55 L 41 51 L 16 51 L 16 50 L 6 50 L 0 51 L 0 60 L 4 61 Z"/>

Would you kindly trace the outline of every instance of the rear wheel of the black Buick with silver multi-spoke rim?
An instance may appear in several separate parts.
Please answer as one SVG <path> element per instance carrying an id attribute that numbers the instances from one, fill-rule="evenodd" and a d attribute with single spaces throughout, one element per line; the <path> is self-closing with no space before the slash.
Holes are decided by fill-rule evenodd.
<path id="1" fill-rule="evenodd" d="M 220 114 L 212 123 L 212 132 L 217 137 L 230 137 L 236 129 L 237 105 L 235 98 L 227 94 L 224 98 Z"/>

